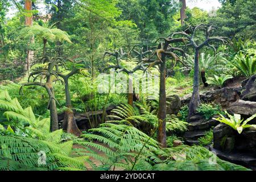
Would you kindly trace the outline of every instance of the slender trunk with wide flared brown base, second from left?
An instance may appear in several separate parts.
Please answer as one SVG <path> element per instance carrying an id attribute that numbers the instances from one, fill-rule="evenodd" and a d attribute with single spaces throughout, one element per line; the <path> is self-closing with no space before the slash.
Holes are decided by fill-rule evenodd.
<path id="1" fill-rule="evenodd" d="M 72 110 L 72 103 L 71 103 L 71 95 L 69 92 L 69 85 L 68 85 L 68 78 L 64 78 L 65 82 L 65 97 L 66 97 L 66 107 L 64 114 L 64 121 L 63 121 L 63 130 L 67 131 L 67 133 L 72 133 L 77 136 L 81 135 L 81 131 L 76 125 L 76 120 L 74 117 L 74 113 Z"/>

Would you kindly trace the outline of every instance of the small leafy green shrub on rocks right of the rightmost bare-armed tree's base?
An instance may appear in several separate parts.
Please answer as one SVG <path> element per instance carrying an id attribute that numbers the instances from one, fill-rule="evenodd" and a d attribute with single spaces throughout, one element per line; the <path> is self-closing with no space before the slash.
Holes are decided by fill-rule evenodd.
<path id="1" fill-rule="evenodd" d="M 218 104 L 200 104 L 197 108 L 197 113 L 204 116 L 205 119 L 210 119 L 217 115 L 222 110 Z"/>

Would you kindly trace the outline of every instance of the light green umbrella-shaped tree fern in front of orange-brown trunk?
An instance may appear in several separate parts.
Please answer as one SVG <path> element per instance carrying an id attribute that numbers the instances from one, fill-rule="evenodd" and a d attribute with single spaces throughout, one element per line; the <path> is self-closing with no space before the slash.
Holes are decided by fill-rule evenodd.
<path id="1" fill-rule="evenodd" d="M 53 24 L 54 25 L 54 24 Z M 46 44 L 47 42 L 64 42 L 67 41 L 72 43 L 69 39 L 69 35 L 67 32 L 60 30 L 59 28 L 52 28 L 53 26 L 48 26 L 48 24 L 43 24 L 40 26 L 39 24 L 35 24 L 31 27 L 25 27 L 22 29 L 22 34 L 26 34 L 28 36 L 35 35 L 36 37 L 42 39 L 43 41 L 43 57 L 46 53 Z"/>

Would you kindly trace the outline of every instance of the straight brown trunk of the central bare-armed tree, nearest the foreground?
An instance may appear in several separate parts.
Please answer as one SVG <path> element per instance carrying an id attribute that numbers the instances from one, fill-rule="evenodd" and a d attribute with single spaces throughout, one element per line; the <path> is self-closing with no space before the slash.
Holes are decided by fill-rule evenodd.
<path id="1" fill-rule="evenodd" d="M 158 110 L 158 142 L 166 147 L 166 63 L 165 56 L 162 57 L 160 65 L 160 90 Z"/>

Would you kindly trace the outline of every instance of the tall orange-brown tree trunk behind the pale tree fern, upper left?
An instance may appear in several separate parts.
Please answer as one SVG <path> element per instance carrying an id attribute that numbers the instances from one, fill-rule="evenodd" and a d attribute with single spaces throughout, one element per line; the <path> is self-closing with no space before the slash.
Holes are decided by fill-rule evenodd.
<path id="1" fill-rule="evenodd" d="M 33 15 L 31 13 L 32 11 L 32 1 L 31 0 L 25 0 L 25 10 L 28 12 L 28 16 L 25 16 L 25 25 L 26 26 L 32 26 L 33 24 Z M 31 36 L 30 38 L 30 44 L 33 44 L 35 42 L 34 36 Z M 27 52 L 27 58 L 26 58 L 26 71 L 30 71 L 30 64 L 32 59 L 34 58 L 34 51 L 28 50 Z"/>

